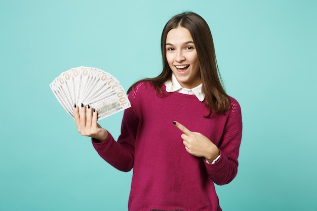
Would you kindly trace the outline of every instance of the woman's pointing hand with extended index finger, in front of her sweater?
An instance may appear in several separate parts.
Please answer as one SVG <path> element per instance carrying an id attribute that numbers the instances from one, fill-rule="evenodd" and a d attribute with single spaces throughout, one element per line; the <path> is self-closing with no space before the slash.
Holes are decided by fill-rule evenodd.
<path id="1" fill-rule="evenodd" d="M 183 132 L 181 138 L 186 151 L 197 157 L 205 157 L 209 163 L 219 156 L 218 147 L 201 133 L 191 132 L 181 123 L 174 121 L 173 124 Z"/>

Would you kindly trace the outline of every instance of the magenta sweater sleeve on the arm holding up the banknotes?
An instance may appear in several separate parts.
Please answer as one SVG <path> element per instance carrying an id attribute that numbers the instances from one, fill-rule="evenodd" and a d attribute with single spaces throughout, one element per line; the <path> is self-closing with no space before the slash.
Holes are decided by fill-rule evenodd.
<path id="1" fill-rule="evenodd" d="M 131 95 L 128 96 L 131 101 Z M 92 140 L 93 146 L 98 154 L 110 165 L 123 172 L 129 172 L 133 168 L 134 163 L 134 147 L 138 128 L 138 118 L 132 107 L 124 111 L 121 126 L 121 135 L 115 141 L 109 133 L 108 138 L 101 143 Z"/>

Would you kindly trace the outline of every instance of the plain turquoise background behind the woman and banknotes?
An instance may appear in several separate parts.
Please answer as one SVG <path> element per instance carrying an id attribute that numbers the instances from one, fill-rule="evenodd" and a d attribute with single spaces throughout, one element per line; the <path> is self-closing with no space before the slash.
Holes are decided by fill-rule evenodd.
<path id="1" fill-rule="evenodd" d="M 127 90 L 160 73 L 175 14 L 203 16 L 243 113 L 223 210 L 317 210 L 316 1 L 0 1 L 0 210 L 127 210 L 132 173 L 103 161 L 49 84 L 77 66 Z M 123 112 L 99 123 L 114 137 Z M 155 164 L 155 163 L 153 163 Z"/>

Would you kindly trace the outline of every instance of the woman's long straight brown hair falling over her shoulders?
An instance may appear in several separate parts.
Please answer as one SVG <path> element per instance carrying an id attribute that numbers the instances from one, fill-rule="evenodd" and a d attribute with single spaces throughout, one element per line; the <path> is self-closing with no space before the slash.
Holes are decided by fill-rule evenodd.
<path id="1" fill-rule="evenodd" d="M 162 93 L 163 83 L 172 77 L 172 70 L 166 59 L 166 37 L 171 29 L 177 27 L 184 27 L 190 32 L 196 47 L 203 83 L 202 92 L 205 95 L 205 104 L 209 107 L 209 114 L 205 117 L 212 116 L 213 111 L 224 113 L 230 108 L 231 100 L 222 86 L 211 31 L 207 22 L 193 12 L 175 15 L 166 23 L 161 36 L 162 72 L 156 77 L 144 78 L 135 82 L 128 89 L 128 93 L 141 81 L 148 81 L 157 93 Z"/>

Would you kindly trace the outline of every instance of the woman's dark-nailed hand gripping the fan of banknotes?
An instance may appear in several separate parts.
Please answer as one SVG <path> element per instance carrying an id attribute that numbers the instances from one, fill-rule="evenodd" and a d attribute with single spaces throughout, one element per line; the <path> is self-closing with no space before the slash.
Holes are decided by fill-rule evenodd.
<path id="1" fill-rule="evenodd" d="M 74 118 L 78 133 L 82 136 L 89 136 L 103 142 L 108 138 L 108 132 L 101 128 L 97 123 L 97 111 L 88 106 L 86 114 L 86 106 L 82 103 L 81 111 L 78 105 L 75 105 Z"/>

